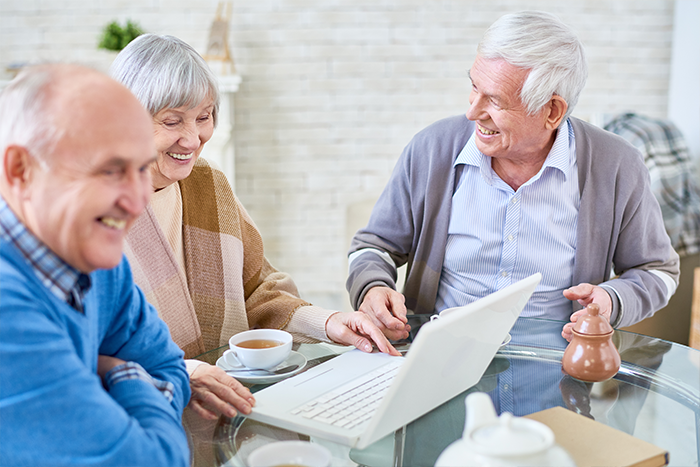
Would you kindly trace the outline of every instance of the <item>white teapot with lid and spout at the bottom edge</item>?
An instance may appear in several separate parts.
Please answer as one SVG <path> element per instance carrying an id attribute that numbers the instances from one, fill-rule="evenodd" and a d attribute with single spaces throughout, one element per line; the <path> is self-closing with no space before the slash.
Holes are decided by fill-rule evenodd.
<path id="1" fill-rule="evenodd" d="M 496 416 L 491 398 L 483 392 L 469 394 L 465 404 L 467 421 L 462 439 L 440 454 L 435 467 L 576 466 L 554 443 L 548 426 L 507 412 Z"/>

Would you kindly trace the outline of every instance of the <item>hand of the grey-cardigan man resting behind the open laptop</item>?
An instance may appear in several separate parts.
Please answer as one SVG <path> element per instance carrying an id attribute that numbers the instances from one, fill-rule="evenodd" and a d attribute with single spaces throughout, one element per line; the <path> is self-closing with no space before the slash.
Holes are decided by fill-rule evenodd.
<path id="1" fill-rule="evenodd" d="M 411 330 L 411 326 L 406 324 L 405 300 L 403 294 L 391 287 L 372 287 L 365 294 L 359 311 L 369 316 L 389 339 L 405 339 Z"/>

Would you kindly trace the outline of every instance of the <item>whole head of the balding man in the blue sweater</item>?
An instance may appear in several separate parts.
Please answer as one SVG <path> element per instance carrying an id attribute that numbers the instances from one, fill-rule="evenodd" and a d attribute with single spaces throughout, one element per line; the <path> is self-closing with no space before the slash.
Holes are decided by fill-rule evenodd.
<path id="1" fill-rule="evenodd" d="M 31 67 L 0 94 L 0 194 L 70 265 L 114 267 L 148 203 L 152 132 L 148 112 L 111 78 Z"/>

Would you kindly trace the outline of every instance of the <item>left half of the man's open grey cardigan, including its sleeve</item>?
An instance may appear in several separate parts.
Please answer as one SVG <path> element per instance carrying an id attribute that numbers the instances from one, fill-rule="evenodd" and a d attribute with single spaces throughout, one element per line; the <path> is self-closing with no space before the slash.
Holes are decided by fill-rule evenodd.
<path id="1" fill-rule="evenodd" d="M 346 288 L 357 309 L 375 286 L 396 288 L 408 264 L 404 296 L 416 313 L 432 312 L 447 242 L 456 157 L 473 133 L 464 114 L 418 132 L 404 148 L 389 181 L 349 251 Z"/>

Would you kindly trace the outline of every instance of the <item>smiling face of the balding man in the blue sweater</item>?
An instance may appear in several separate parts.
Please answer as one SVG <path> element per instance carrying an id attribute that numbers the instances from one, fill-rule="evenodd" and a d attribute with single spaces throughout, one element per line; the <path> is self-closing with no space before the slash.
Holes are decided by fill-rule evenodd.
<path id="1" fill-rule="evenodd" d="M 13 149 L 26 151 L 19 217 L 83 272 L 120 263 L 126 231 L 149 201 L 155 154 L 148 113 L 126 88 L 93 78 L 76 79 L 89 91 L 54 102 L 54 115 L 66 123 L 51 154 L 34 155 L 39 160 Z"/>

